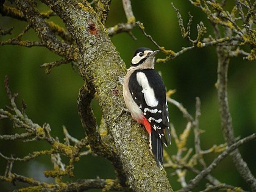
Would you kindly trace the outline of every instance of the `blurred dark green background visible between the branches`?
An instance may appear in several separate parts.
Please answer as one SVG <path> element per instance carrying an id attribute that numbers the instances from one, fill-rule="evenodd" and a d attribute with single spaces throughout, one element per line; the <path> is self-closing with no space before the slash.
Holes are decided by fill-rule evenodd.
<path id="1" fill-rule="evenodd" d="M 194 16 L 191 27 L 191 37 L 196 38 L 196 24 L 203 21 L 207 27 L 207 35 L 213 34 L 212 27 L 205 15 L 199 9 L 193 7 L 188 1 L 132 1 L 133 13 L 137 21 L 141 21 L 146 28 L 146 32 L 154 38 L 160 46 L 166 49 L 180 51 L 182 47 L 190 44 L 182 39 L 177 21 L 176 12 L 171 7 L 171 2 L 182 13 L 185 27 L 188 22 L 188 12 Z M 232 2 L 227 5 L 229 11 Z M 45 10 L 43 4 L 38 4 L 38 9 Z M 64 26 L 62 21 L 55 16 L 50 19 Z M 112 1 L 110 14 L 107 20 L 107 27 L 117 23 L 125 23 L 126 16 L 123 11 L 121 1 Z M 15 27 L 12 35 L 0 37 L 1 41 L 8 38 L 15 38 L 27 24 L 23 21 L 13 20 L 9 17 L 0 16 L 0 27 L 8 29 Z M 137 40 L 133 40 L 129 34 L 123 33 L 112 37 L 112 42 L 119 51 L 121 58 L 130 65 L 133 52 L 138 47 L 148 47 L 156 49 L 154 44 L 144 37 L 138 27 L 132 30 Z M 38 40 L 33 30 L 24 35 L 23 39 Z M 247 49 L 246 47 L 244 49 Z M 164 58 L 160 53 L 157 58 Z M 63 141 L 62 126 L 65 125 L 71 135 L 78 139 L 84 137 L 84 129 L 81 126 L 77 113 L 77 94 L 83 84 L 82 78 L 70 65 L 62 65 L 52 69 L 51 74 L 45 74 L 44 69 L 39 66 L 43 63 L 54 62 L 60 59 L 46 48 L 22 48 L 20 46 L 0 46 L 0 108 L 9 104 L 4 90 L 4 77 L 9 76 L 10 88 L 13 93 L 19 93 L 16 103 L 21 106 L 21 101 L 27 104 L 26 113 L 34 123 L 41 126 L 49 123 L 52 129 L 52 136 L 59 137 Z M 176 90 L 172 98 L 181 102 L 194 115 L 195 98 L 201 99 L 200 128 L 205 130 L 201 135 L 202 149 L 208 149 L 213 144 L 224 143 L 219 120 L 219 110 L 217 94 L 215 90 L 217 57 L 215 48 L 195 49 L 177 57 L 177 59 L 167 63 L 157 63 L 155 68 L 162 72 L 162 77 L 167 90 Z M 246 137 L 256 131 L 256 63 L 246 62 L 242 57 L 235 57 L 230 60 L 229 68 L 229 105 L 233 119 L 233 127 L 236 137 Z M 97 120 L 101 120 L 101 112 L 97 101 L 93 101 L 94 113 Z M 169 104 L 169 118 L 174 124 L 177 133 L 181 133 L 186 126 L 186 119 L 174 105 Z M 12 123 L 7 119 L 0 121 L 1 134 L 13 134 L 20 130 L 13 130 Z M 193 147 L 193 135 L 190 136 L 190 147 Z M 23 143 L 21 141 L 0 141 L 0 152 L 2 154 L 15 157 L 23 157 L 27 152 L 49 149 L 49 144 L 40 141 L 34 143 Z M 169 154 L 176 154 L 176 147 L 172 142 L 168 149 Z M 256 141 L 244 144 L 240 148 L 244 160 L 256 176 Z M 216 154 L 206 155 L 205 160 L 209 164 Z M 63 158 L 66 162 L 66 159 Z M 5 171 L 6 161 L 0 158 L 0 174 Z M 52 163 L 50 157 L 40 157 L 29 163 L 15 163 L 13 172 L 23 174 L 28 177 L 35 177 L 41 181 L 52 182 L 52 179 L 43 176 L 44 170 L 51 170 Z M 115 172 L 110 162 L 101 157 L 87 155 L 76 163 L 74 170 L 75 177 L 64 180 L 93 179 L 101 177 L 103 179 L 115 178 Z M 173 170 L 168 169 L 168 178 L 174 190 L 180 188 L 177 183 L 177 176 L 172 176 Z M 212 172 L 213 176 L 221 182 L 230 185 L 246 187 L 243 179 L 234 168 L 230 157 L 222 161 Z M 194 174 L 189 174 L 193 178 Z M 195 190 L 204 187 L 204 182 Z M 16 187 L 22 184 L 17 183 Z M 13 190 L 9 183 L 0 182 L 1 191 Z M 99 190 L 90 190 L 99 191 Z"/>

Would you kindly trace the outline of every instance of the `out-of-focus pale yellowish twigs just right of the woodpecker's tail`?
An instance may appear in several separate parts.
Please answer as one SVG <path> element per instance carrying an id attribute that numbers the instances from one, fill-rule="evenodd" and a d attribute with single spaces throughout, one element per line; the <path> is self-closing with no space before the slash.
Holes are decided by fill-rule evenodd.
<path id="1" fill-rule="evenodd" d="M 174 91 L 168 91 L 167 92 L 167 98 L 169 98 L 169 96 L 173 92 Z M 180 108 L 180 111 L 183 113 L 184 116 L 191 116 L 191 115 L 188 114 L 187 110 L 184 111 L 184 107 L 179 102 L 175 101 L 174 104 L 178 108 Z M 191 116 L 191 118 L 188 118 L 188 124 L 192 124 L 193 127 L 194 127 L 194 146 L 195 146 L 195 149 L 196 149 L 196 154 L 194 154 L 190 159 L 188 157 L 191 154 L 191 149 L 189 149 L 187 154 L 184 157 L 181 158 L 181 152 L 184 152 L 186 149 L 181 148 L 181 147 L 184 146 L 184 144 L 182 144 L 182 145 L 180 144 L 182 142 L 177 137 L 176 131 L 175 131 L 173 125 L 171 124 L 172 137 L 174 137 L 174 141 L 176 143 L 178 151 L 177 151 L 177 155 L 172 155 L 173 158 L 175 157 L 174 162 L 172 162 L 169 155 L 165 153 L 165 159 L 167 161 L 167 163 L 165 163 L 165 168 L 171 167 L 173 169 L 180 170 L 180 171 L 177 172 L 177 176 L 179 177 L 179 182 L 181 182 L 182 186 L 185 186 L 185 182 L 184 182 L 185 172 L 181 171 L 182 169 L 187 169 L 189 171 L 195 172 L 196 174 L 199 174 L 200 171 L 197 170 L 196 168 L 194 168 L 194 165 L 197 165 L 197 160 L 199 162 L 201 162 L 201 164 L 203 165 L 203 168 L 207 167 L 205 162 L 204 162 L 204 158 L 203 158 L 202 155 L 209 154 L 211 152 L 218 152 L 219 153 L 219 152 L 223 152 L 225 149 L 227 149 L 227 144 L 220 144 L 219 146 L 213 145 L 212 148 L 210 148 L 208 150 L 205 150 L 205 151 L 202 151 L 201 146 L 200 146 L 200 137 L 199 137 L 199 135 L 202 133 L 202 130 L 200 130 L 199 127 L 198 127 L 199 126 L 199 116 L 200 115 L 201 115 L 200 100 L 199 100 L 199 98 L 196 98 L 196 115 L 195 115 L 195 118 L 193 119 L 192 116 Z M 187 126 L 188 126 L 188 124 L 187 124 Z M 185 133 L 185 131 L 180 135 L 180 138 L 187 138 L 187 137 L 182 136 L 182 135 L 184 135 L 184 133 Z M 185 135 L 187 135 L 187 133 Z M 177 157 L 179 157 L 179 159 L 177 159 Z M 187 163 L 187 161 L 188 161 L 188 163 Z M 219 182 L 218 179 L 211 176 L 210 174 L 205 176 L 205 179 L 207 179 L 208 182 L 210 182 L 215 187 L 220 186 L 220 185 L 223 186 L 223 187 L 227 187 L 226 184 Z"/>

